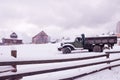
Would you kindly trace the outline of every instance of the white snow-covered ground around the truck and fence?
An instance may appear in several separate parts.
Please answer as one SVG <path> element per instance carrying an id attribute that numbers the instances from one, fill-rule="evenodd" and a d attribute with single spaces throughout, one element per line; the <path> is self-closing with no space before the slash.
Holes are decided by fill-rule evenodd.
<path id="1" fill-rule="evenodd" d="M 58 44 L 23 44 L 23 45 L 12 45 L 12 46 L 0 46 L 0 61 L 14 61 L 14 60 L 46 60 L 46 59 L 66 59 L 66 58 L 78 58 L 78 57 L 86 57 L 93 55 L 101 55 L 104 54 L 105 51 L 119 51 L 120 46 L 115 45 L 112 50 L 105 50 L 103 53 L 94 53 L 84 51 L 74 51 L 71 54 L 62 54 L 57 50 L 59 47 Z M 17 58 L 11 57 L 11 50 L 17 50 Z M 110 59 L 120 58 L 120 54 L 112 54 Z M 28 72 L 28 71 L 37 71 L 44 69 L 54 69 L 59 67 L 73 66 L 79 64 L 86 64 L 89 62 L 99 62 L 106 60 L 105 57 L 84 61 L 74 61 L 74 62 L 65 62 L 65 63 L 52 63 L 52 64 L 34 64 L 34 65 L 21 65 L 17 66 L 17 73 Z M 119 63 L 117 61 L 113 64 Z M 108 64 L 107 64 L 108 65 Z M 111 65 L 111 64 L 110 64 Z M 75 75 L 79 75 L 84 72 L 89 72 L 92 70 L 99 69 L 101 67 L 106 66 L 106 64 L 85 67 L 85 68 L 77 68 L 66 71 L 59 71 L 47 74 L 33 75 L 24 77 L 21 80 L 58 80 L 62 78 L 67 78 Z M 0 71 L 4 71 L 6 69 L 12 69 L 11 66 L 0 66 Z M 0 73 L 1 75 L 11 74 L 12 72 Z M 112 70 L 105 70 L 95 74 L 91 74 L 85 76 L 83 78 L 78 78 L 76 80 L 120 80 L 120 67 L 113 68 Z"/>

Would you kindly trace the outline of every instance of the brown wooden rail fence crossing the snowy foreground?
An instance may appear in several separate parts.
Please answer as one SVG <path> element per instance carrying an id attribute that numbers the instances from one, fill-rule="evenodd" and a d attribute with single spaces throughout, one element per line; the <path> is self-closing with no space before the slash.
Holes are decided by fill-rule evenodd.
<path id="1" fill-rule="evenodd" d="M 82 57 L 82 58 L 69 58 L 69 59 L 54 59 L 54 60 L 33 60 L 33 61 L 10 61 L 10 62 L 0 62 L 0 66 L 5 66 L 5 65 L 26 65 L 26 64 L 44 64 L 44 63 L 58 63 L 58 62 L 68 62 L 68 61 L 80 61 L 80 60 L 88 60 L 88 59 L 97 59 L 101 57 L 106 57 L 109 58 L 110 54 L 113 53 L 120 53 L 120 51 L 115 51 L 115 52 L 106 52 L 105 54 L 102 55 L 97 55 L 97 56 L 89 56 L 89 57 Z M 93 66 L 93 65 L 99 65 L 99 64 L 106 64 L 106 63 L 111 63 L 111 62 L 116 62 L 120 61 L 120 58 L 113 59 L 113 60 L 105 60 L 105 61 L 99 61 L 99 62 L 93 62 L 93 63 L 87 63 L 87 64 L 81 64 L 81 65 L 75 65 L 75 66 L 69 66 L 69 67 L 61 67 L 61 68 L 54 68 L 54 69 L 46 69 L 46 70 L 40 70 L 40 71 L 33 71 L 33 72 L 23 72 L 23 73 L 13 73 L 9 75 L 2 75 L 0 76 L 0 80 L 5 80 L 5 79 L 16 79 L 16 78 L 21 78 L 25 76 L 31 76 L 31 75 L 36 75 L 36 74 L 44 74 L 44 73 L 50 73 L 50 72 L 57 72 L 57 71 L 63 71 L 63 70 L 69 70 L 69 69 L 75 69 L 75 68 L 82 68 L 82 67 L 88 67 L 88 66 Z M 111 69 L 112 67 L 117 67 L 120 66 L 120 64 L 117 65 L 112 65 L 112 66 L 107 66 L 104 68 L 101 68 L 99 70 L 94 70 L 89 73 L 84 73 L 76 76 L 71 76 L 69 78 L 61 79 L 61 80 L 73 80 L 79 77 L 83 77 L 95 72 L 99 72 L 105 69 Z"/>

